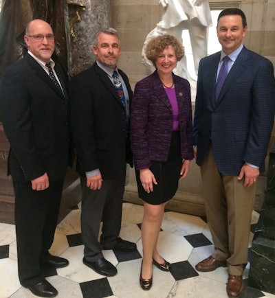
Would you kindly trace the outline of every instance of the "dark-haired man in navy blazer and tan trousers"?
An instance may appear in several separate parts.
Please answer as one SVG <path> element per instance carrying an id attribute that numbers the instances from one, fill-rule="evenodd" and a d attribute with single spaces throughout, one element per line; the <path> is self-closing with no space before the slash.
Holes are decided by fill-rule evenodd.
<path id="1" fill-rule="evenodd" d="M 265 170 L 274 123 L 274 67 L 242 44 L 247 30 L 241 10 L 228 8 L 219 14 L 217 36 L 222 51 L 199 64 L 193 126 L 214 243 L 212 255 L 196 269 L 228 266 L 230 297 L 238 297 L 243 290 L 255 183 Z M 228 75 L 215 95 L 223 56 L 229 57 Z"/>

